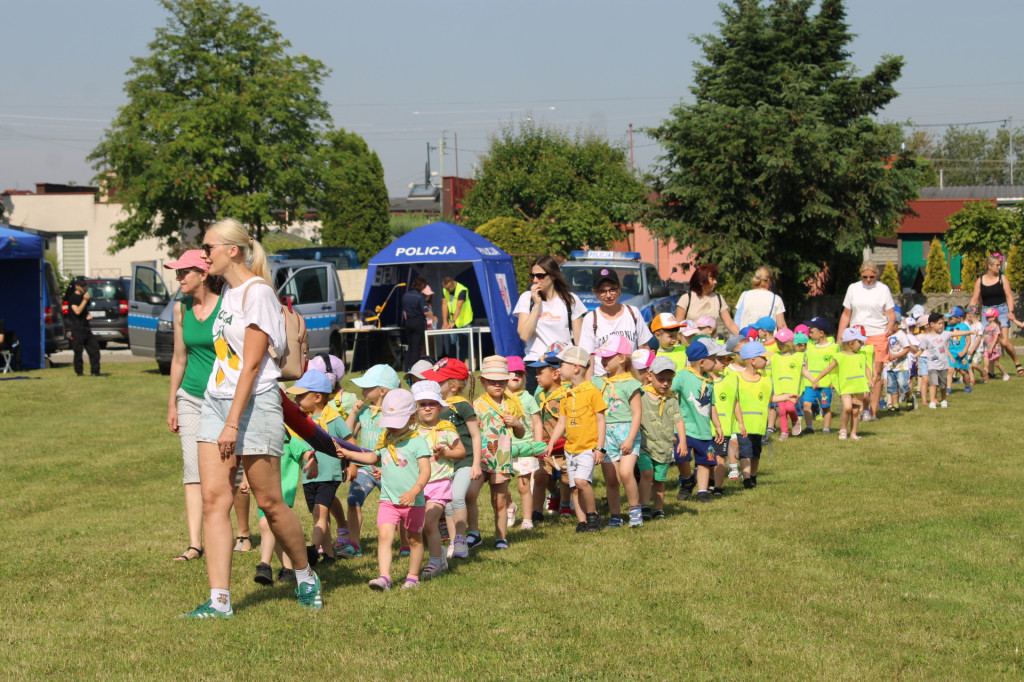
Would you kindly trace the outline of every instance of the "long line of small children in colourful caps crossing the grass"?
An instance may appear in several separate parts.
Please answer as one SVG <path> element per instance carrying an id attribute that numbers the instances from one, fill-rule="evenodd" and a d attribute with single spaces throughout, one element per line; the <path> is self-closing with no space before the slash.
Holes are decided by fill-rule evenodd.
<path id="1" fill-rule="evenodd" d="M 900 318 L 883 370 L 889 411 L 918 408 L 914 377 L 932 409 L 947 407 L 954 375 L 968 393 L 976 374 L 987 382 L 997 369 L 1009 379 L 998 364 L 998 313 L 980 312 L 914 309 Z M 873 347 L 864 344 L 862 330 L 848 328 L 837 342 L 823 317 L 793 330 L 776 330 L 773 318 L 762 317 L 721 343 L 713 338 L 713 319 L 678 322 L 668 313 L 650 329 L 656 352 L 634 350 L 620 335 L 593 355 L 555 344 L 529 365 L 535 394 L 524 390 L 520 357 L 484 358 L 478 386 L 465 364 L 451 357 L 417 363 L 406 375 L 408 388 L 394 370 L 378 365 L 353 380 L 361 396 L 341 390 L 340 359 L 313 358 L 288 393 L 332 436 L 367 452 L 345 451 L 344 468 L 336 453 L 316 453 L 290 434 L 282 486 L 291 503 L 301 480 L 314 523 L 310 562 L 362 555 L 362 508 L 374 488 L 379 574 L 370 587 L 391 588 L 397 536 L 399 556 L 409 557 L 401 587 L 409 589 L 483 542 L 477 501 L 484 483 L 494 547 L 506 550 L 518 517 L 521 530 L 531 530 L 545 512 L 574 516 L 578 532 L 599 530 L 598 468 L 609 528 L 665 518 L 673 464 L 680 500 L 711 502 L 726 479 L 755 488 L 762 451 L 776 431 L 780 441 L 813 434 L 819 422 L 821 433 L 831 432 L 834 391 L 842 403 L 839 439 L 860 439 L 874 379 Z M 602 376 L 593 376 L 595 363 Z M 346 481 L 347 514 L 337 498 Z M 269 585 L 274 547 L 264 525 L 255 581 Z M 294 574 L 283 565 L 278 580 Z"/>

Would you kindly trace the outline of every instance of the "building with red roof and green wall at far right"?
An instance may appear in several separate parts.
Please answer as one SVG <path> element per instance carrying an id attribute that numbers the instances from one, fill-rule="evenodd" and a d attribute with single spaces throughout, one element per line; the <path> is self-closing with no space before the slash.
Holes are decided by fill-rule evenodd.
<path id="1" fill-rule="evenodd" d="M 903 218 L 896 228 L 900 262 L 900 283 L 920 290 L 928 263 L 928 251 L 936 237 L 949 264 L 953 288 L 961 286 L 961 254 L 946 250 L 944 235 L 949 229 L 949 216 L 970 202 L 989 202 L 999 208 L 1009 208 L 1024 201 L 1024 185 L 975 185 L 951 187 L 922 187 L 921 199 L 910 202 L 916 215 Z"/>

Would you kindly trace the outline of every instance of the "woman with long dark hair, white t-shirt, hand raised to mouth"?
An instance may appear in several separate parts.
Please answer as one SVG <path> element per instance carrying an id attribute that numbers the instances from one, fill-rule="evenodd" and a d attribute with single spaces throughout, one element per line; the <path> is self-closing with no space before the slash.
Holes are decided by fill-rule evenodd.
<path id="1" fill-rule="evenodd" d="M 581 317 L 587 306 L 569 291 L 558 261 L 541 256 L 529 266 L 530 287 L 519 296 L 512 310 L 518 318 L 519 338 L 526 344 L 526 390 L 537 390 L 536 370 L 529 363 L 540 359 L 555 343 L 580 342 Z"/>

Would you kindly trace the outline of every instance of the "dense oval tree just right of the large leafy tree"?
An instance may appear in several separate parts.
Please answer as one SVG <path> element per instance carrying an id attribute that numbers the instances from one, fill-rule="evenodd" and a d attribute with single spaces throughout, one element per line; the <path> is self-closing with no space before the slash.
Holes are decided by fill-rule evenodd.
<path id="1" fill-rule="evenodd" d="M 318 153 L 322 193 L 317 199 L 324 246 L 355 247 L 359 263 L 391 242 L 384 167 L 376 152 L 353 132 L 335 130 Z"/>

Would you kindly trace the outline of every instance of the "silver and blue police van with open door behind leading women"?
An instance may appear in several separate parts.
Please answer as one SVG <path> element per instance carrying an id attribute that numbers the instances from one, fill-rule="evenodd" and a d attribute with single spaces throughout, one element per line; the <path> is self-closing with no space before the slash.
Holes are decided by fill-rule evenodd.
<path id="1" fill-rule="evenodd" d="M 278 296 L 291 299 L 292 306 L 306 321 L 309 354 L 332 352 L 343 348 L 338 330 L 345 326 L 345 296 L 334 263 L 317 260 L 271 259 L 270 281 Z M 136 268 L 146 267 L 136 265 Z M 153 268 L 150 272 L 156 273 Z M 158 275 L 159 276 L 159 275 Z M 174 356 L 174 300 L 165 303 L 156 313 L 132 313 L 132 354 L 154 357 L 161 374 L 170 374 Z"/>

